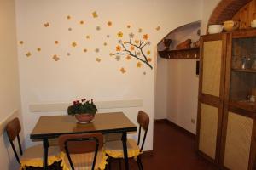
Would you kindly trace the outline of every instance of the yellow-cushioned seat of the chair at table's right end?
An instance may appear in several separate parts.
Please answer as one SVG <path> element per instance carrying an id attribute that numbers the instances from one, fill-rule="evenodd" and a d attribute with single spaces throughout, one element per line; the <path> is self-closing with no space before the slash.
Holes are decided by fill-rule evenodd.
<path id="1" fill-rule="evenodd" d="M 141 154 L 140 148 L 134 139 L 127 139 L 127 152 L 128 157 L 135 157 Z M 121 140 L 106 142 L 105 150 L 108 156 L 113 158 L 124 158 L 123 143 Z"/>

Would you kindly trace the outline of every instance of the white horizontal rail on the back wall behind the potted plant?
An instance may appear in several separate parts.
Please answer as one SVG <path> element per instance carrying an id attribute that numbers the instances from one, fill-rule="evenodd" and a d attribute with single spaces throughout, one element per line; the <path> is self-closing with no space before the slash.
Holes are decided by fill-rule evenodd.
<path id="1" fill-rule="evenodd" d="M 95 102 L 95 104 L 98 109 L 141 107 L 143 106 L 143 99 L 97 101 Z M 32 112 L 67 111 L 68 105 L 71 105 L 71 104 L 70 103 L 31 104 L 29 105 L 29 111 L 32 111 Z"/>

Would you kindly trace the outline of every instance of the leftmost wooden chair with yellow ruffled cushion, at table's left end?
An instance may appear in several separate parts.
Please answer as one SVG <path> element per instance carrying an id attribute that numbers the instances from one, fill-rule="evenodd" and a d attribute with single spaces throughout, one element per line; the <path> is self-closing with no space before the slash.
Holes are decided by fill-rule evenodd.
<path id="1" fill-rule="evenodd" d="M 20 121 L 17 117 L 7 124 L 5 130 L 7 132 L 11 147 L 14 150 L 15 158 L 20 163 L 21 169 L 27 169 L 29 167 L 30 168 L 43 167 L 44 154 L 43 154 L 42 144 L 38 144 L 30 148 L 27 148 L 26 150 L 24 150 L 24 152 L 22 151 L 21 144 L 20 144 L 20 135 L 19 135 L 21 131 L 21 126 L 20 126 Z M 15 144 L 14 144 L 14 141 L 16 138 L 18 139 L 20 157 L 16 151 Z M 56 162 L 60 162 L 61 156 L 60 156 L 59 147 L 49 147 L 48 156 L 49 156 L 48 158 L 49 165 L 54 164 Z"/>

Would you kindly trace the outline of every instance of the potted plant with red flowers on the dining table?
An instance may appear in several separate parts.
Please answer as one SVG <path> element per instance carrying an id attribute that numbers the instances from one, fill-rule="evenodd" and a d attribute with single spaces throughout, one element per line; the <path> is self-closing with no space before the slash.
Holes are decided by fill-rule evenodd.
<path id="1" fill-rule="evenodd" d="M 90 122 L 97 112 L 93 99 L 81 99 L 73 101 L 73 105 L 67 108 L 67 114 L 75 116 L 79 122 Z"/>

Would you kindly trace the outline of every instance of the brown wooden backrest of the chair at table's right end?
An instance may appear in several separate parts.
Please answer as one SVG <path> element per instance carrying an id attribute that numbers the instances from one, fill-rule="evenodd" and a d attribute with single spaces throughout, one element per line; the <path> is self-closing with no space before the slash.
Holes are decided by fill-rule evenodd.
<path id="1" fill-rule="evenodd" d="M 147 113 L 145 113 L 144 111 L 138 111 L 137 114 L 137 122 L 140 125 L 139 127 L 139 133 L 138 133 L 138 139 L 137 139 L 137 144 L 140 144 L 140 139 L 141 139 L 141 130 L 143 128 L 144 132 L 144 136 L 143 136 L 143 143 L 141 145 L 141 149 L 140 151 L 143 151 L 143 147 L 144 147 L 144 143 L 145 143 L 145 139 L 148 133 L 148 125 L 149 125 L 149 116 Z"/>

